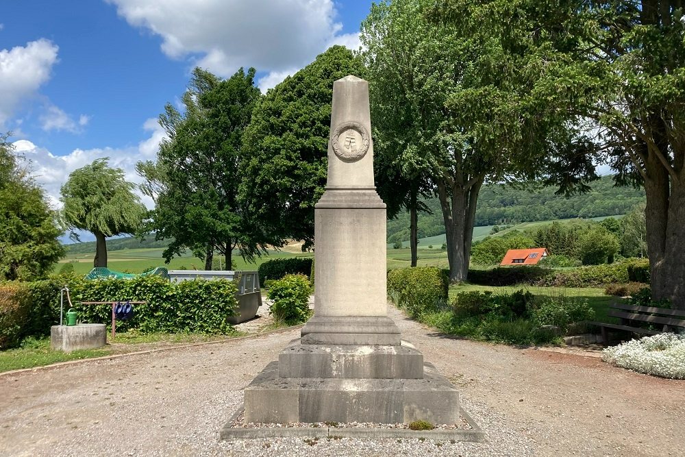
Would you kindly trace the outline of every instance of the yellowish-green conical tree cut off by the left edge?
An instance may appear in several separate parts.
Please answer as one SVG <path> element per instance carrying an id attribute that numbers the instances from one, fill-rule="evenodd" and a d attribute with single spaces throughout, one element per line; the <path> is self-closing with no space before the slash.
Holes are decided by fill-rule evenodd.
<path id="1" fill-rule="evenodd" d="M 57 214 L 0 134 L 0 280 L 45 276 L 62 255 Z"/>

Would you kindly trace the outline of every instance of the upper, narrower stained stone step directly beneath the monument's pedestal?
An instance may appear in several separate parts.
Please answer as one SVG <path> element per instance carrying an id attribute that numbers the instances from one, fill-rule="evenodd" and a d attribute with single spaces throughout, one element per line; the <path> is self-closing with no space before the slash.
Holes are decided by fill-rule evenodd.
<path id="1" fill-rule="evenodd" d="M 410 345 L 311 345 L 295 340 L 278 356 L 281 378 L 421 379 L 423 354 Z"/>

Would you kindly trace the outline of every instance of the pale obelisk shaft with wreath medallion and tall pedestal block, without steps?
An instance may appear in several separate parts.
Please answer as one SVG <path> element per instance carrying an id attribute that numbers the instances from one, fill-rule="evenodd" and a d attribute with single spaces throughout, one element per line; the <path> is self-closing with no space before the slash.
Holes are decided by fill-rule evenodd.
<path id="1" fill-rule="evenodd" d="M 351 75 L 338 79 L 327 186 L 314 210 L 316 317 L 387 315 L 386 205 L 374 187 L 370 132 L 369 83 Z"/>

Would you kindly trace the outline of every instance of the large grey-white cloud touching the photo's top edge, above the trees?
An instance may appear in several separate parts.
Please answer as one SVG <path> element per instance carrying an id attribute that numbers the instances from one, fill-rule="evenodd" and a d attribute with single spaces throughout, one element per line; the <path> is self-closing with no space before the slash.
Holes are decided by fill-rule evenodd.
<path id="1" fill-rule="evenodd" d="M 270 83 L 332 44 L 359 45 L 358 34 L 340 34 L 333 0 L 108 1 L 129 24 L 161 36 L 169 57 L 223 77 L 254 66 L 271 73 Z"/>

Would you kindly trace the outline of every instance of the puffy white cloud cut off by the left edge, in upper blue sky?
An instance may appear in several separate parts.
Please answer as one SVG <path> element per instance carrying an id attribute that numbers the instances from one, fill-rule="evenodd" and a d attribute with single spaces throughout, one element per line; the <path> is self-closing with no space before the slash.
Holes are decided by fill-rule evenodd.
<path id="1" fill-rule="evenodd" d="M 0 50 L 0 127 L 50 78 L 58 49 L 51 41 L 40 39 L 25 47 Z"/>

